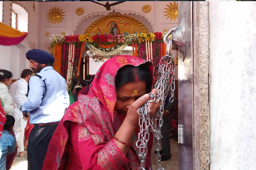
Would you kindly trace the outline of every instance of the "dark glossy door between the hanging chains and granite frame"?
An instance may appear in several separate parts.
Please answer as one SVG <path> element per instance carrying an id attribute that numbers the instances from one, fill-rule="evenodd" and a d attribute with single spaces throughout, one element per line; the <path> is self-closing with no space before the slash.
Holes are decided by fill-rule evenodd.
<path id="1" fill-rule="evenodd" d="M 180 2 L 178 11 L 179 25 L 183 23 L 185 28 L 185 43 L 181 43 L 185 54 L 178 55 L 179 170 L 193 170 L 192 2 Z"/>

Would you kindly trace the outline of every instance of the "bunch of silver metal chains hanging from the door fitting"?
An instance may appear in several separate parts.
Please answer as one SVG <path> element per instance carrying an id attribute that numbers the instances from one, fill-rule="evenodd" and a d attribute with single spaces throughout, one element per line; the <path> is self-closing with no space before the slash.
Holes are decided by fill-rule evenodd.
<path id="1" fill-rule="evenodd" d="M 169 39 L 170 40 L 170 39 Z M 170 44 L 169 44 L 170 43 Z M 167 47 L 171 47 L 172 41 L 168 41 Z M 148 153 L 148 140 L 150 137 L 150 132 L 153 131 L 154 136 L 157 138 L 156 148 L 158 155 L 158 170 L 164 170 L 161 167 L 161 155 L 160 155 L 160 139 L 162 138 L 161 127 L 163 126 L 163 113 L 164 113 L 164 103 L 167 97 L 167 93 L 169 88 L 171 87 L 171 98 L 172 100 L 174 96 L 175 90 L 175 62 L 174 55 L 170 53 L 170 49 L 166 50 L 167 55 L 164 55 L 159 63 L 158 68 L 158 79 L 155 84 L 155 89 L 158 91 L 158 94 L 149 93 L 149 100 L 142 105 L 138 109 L 139 118 L 139 126 L 140 132 L 138 133 L 138 140 L 136 142 L 136 146 L 139 148 L 139 159 L 140 159 L 140 170 L 146 170 L 146 155 Z M 171 55 L 171 56 L 170 56 Z M 150 118 L 150 106 L 149 103 L 152 102 L 161 102 L 160 109 L 156 112 L 153 118 Z"/>

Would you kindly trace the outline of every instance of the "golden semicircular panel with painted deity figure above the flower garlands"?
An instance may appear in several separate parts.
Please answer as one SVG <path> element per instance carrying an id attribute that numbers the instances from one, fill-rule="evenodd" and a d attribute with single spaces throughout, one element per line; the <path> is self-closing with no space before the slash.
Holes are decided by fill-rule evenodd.
<path id="1" fill-rule="evenodd" d="M 137 19 L 121 14 L 107 15 L 102 17 L 95 22 L 93 22 L 84 34 L 94 34 L 97 33 L 103 35 L 107 34 L 124 34 L 124 33 L 134 34 L 137 33 L 148 33 L 147 28 Z"/>

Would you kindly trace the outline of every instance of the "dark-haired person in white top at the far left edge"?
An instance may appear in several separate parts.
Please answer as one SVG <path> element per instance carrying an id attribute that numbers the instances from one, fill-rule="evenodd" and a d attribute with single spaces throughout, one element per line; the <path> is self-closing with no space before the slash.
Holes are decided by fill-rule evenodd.
<path id="1" fill-rule="evenodd" d="M 0 97 L 3 100 L 4 112 L 6 115 L 13 113 L 13 100 L 8 87 L 12 84 L 12 73 L 8 70 L 0 69 Z"/>

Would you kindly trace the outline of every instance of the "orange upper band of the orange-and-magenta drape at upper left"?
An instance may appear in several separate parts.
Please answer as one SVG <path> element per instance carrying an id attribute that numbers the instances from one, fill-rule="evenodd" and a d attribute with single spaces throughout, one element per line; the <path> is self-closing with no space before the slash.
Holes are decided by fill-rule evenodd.
<path id="1" fill-rule="evenodd" d="M 16 30 L 12 27 L 9 27 L 3 23 L 0 22 L 0 36 L 2 37 L 22 37 L 27 33 L 20 32 L 19 30 Z"/>

